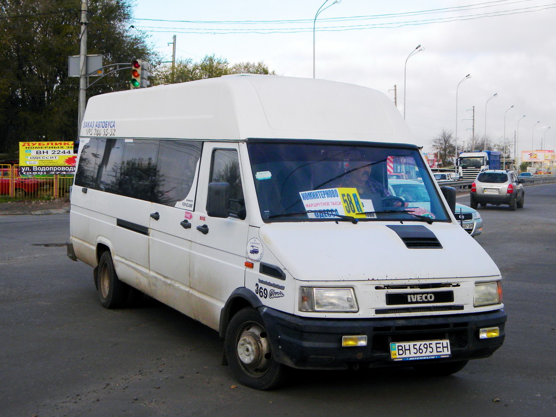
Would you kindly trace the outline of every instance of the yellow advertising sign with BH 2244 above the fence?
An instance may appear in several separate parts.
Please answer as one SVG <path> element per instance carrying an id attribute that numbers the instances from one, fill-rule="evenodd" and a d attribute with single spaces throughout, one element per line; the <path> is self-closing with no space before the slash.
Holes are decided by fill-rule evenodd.
<path id="1" fill-rule="evenodd" d="M 19 142 L 19 174 L 75 173 L 73 142 Z"/>

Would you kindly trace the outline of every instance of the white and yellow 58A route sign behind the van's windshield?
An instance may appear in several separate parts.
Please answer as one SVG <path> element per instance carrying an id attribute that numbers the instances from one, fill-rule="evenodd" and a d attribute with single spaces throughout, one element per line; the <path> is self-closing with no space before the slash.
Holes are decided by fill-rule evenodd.
<path id="1" fill-rule="evenodd" d="M 329 219 L 337 215 L 358 218 L 376 216 L 365 215 L 367 211 L 374 211 L 373 202 L 361 200 L 357 188 L 301 191 L 299 195 L 310 219 Z"/>

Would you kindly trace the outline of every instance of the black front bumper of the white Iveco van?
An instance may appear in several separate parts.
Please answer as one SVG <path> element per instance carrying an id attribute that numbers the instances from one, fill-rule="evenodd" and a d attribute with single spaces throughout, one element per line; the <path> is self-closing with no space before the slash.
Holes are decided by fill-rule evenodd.
<path id="1" fill-rule="evenodd" d="M 479 314 L 398 319 L 309 319 L 260 307 L 274 359 L 292 368 L 346 369 L 408 365 L 390 359 L 390 342 L 449 339 L 451 357 L 420 363 L 486 358 L 504 341 L 504 310 Z M 479 329 L 500 328 L 500 336 L 479 339 Z M 342 336 L 366 335 L 367 346 L 342 347 Z"/>

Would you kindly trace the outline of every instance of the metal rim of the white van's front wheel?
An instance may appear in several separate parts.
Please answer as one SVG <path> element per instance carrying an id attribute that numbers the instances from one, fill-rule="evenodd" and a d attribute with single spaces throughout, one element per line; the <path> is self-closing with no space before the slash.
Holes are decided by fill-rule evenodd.
<path id="1" fill-rule="evenodd" d="M 244 372 L 258 378 L 272 363 L 270 343 L 266 330 L 256 322 L 247 322 L 237 331 L 237 363 Z"/>

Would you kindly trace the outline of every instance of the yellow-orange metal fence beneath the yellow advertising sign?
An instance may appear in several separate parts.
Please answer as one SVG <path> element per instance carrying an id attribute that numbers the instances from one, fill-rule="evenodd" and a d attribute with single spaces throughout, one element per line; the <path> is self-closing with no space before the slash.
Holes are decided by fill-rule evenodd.
<path id="1" fill-rule="evenodd" d="M 69 196 L 73 175 L 19 175 L 18 165 L 0 164 L 0 197 L 47 200 Z"/>

